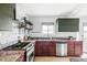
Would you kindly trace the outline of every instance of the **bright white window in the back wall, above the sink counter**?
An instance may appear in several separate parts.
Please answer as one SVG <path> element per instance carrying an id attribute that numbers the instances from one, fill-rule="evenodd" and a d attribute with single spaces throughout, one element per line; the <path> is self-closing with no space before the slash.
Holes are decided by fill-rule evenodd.
<path id="1" fill-rule="evenodd" d="M 53 34 L 54 33 L 54 24 L 42 24 L 42 33 L 43 34 Z"/>

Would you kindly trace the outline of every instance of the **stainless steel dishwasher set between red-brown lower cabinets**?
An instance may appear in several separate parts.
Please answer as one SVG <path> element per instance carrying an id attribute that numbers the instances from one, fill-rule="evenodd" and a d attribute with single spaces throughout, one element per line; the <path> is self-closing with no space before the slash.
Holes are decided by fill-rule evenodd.
<path id="1" fill-rule="evenodd" d="M 67 43 L 66 42 L 56 43 L 56 55 L 57 56 L 67 56 Z"/>

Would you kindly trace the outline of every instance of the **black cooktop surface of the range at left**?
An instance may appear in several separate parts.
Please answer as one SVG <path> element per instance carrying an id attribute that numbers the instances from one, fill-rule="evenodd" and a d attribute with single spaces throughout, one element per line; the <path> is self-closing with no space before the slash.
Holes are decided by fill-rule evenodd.
<path id="1" fill-rule="evenodd" d="M 4 47 L 3 50 L 23 50 L 24 46 L 26 46 L 30 43 L 17 43 L 11 46 Z"/>

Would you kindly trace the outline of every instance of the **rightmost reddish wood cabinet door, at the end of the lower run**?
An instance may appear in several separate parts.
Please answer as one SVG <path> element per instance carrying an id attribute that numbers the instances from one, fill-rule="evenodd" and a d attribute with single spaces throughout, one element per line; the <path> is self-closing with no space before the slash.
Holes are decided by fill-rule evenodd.
<path id="1" fill-rule="evenodd" d="M 83 42 L 75 42 L 75 55 L 79 56 L 83 53 Z"/>

